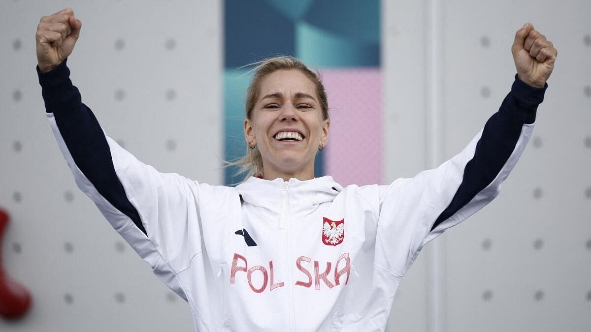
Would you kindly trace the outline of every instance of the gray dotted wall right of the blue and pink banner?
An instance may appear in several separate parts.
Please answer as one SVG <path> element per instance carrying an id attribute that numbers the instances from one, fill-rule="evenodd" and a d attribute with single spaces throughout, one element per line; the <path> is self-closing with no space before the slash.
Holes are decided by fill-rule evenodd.
<path id="1" fill-rule="evenodd" d="M 451 158 L 498 110 L 525 22 L 558 48 L 534 135 L 501 194 L 427 245 L 389 330 L 590 331 L 591 2 L 382 4 L 387 180 Z"/>

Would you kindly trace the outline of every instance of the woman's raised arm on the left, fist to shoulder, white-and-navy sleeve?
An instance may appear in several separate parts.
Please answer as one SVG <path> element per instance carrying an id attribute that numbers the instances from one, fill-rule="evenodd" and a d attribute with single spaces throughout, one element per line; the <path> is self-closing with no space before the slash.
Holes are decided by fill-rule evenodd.
<path id="1" fill-rule="evenodd" d="M 37 30 L 37 73 L 51 129 L 80 190 L 187 300 L 176 274 L 202 251 L 199 206 L 210 198 L 210 186 L 158 172 L 105 135 L 66 66 L 81 25 L 72 9 L 64 9 L 41 19 Z"/>

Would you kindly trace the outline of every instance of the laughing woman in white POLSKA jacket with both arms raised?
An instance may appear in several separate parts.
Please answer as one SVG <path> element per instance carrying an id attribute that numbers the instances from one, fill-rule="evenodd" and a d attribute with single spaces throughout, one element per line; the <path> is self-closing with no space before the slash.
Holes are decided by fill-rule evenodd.
<path id="1" fill-rule="evenodd" d="M 199 331 L 383 331 L 423 246 L 491 201 L 525 148 L 556 49 L 530 24 L 498 112 L 440 167 L 389 185 L 314 178 L 329 138 L 326 94 L 294 58 L 259 64 L 246 100 L 237 187 L 142 164 L 105 135 L 69 79 L 82 23 L 41 19 L 38 75 L 47 117 L 79 188 L 165 284 Z"/>

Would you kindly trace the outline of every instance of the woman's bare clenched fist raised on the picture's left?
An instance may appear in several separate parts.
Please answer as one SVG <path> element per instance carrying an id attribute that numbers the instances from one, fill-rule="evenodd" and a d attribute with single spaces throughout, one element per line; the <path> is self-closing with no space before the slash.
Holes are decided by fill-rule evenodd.
<path id="1" fill-rule="evenodd" d="M 82 22 L 74 17 L 72 8 L 44 16 L 37 25 L 37 64 L 41 73 L 57 67 L 67 58 L 80 35 Z"/>

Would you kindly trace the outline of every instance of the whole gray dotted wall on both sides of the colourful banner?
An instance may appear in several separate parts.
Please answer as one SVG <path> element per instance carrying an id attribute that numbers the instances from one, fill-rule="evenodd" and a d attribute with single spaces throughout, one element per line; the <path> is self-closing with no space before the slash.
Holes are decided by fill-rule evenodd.
<path id="1" fill-rule="evenodd" d="M 0 4 L 2 259 L 33 293 L 4 331 L 192 331 L 189 307 L 77 190 L 44 116 L 38 21 L 72 6 L 83 100 L 139 160 L 222 182 L 222 4 Z M 558 48 L 537 125 L 489 206 L 434 240 L 402 281 L 388 331 L 591 330 L 591 3 L 383 1 L 385 179 L 460 151 L 496 112 L 529 21 Z"/>

